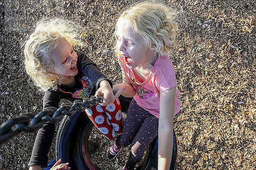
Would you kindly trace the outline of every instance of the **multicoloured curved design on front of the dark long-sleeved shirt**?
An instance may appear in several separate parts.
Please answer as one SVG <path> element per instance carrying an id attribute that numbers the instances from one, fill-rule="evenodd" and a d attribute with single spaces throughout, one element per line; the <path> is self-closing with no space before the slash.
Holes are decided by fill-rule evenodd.
<path id="1" fill-rule="evenodd" d="M 92 92 L 93 82 L 86 76 L 81 78 L 81 82 L 82 82 L 84 88 L 82 90 L 76 91 L 74 94 L 71 92 L 62 91 L 60 88 L 58 88 L 58 89 L 64 93 L 72 94 L 72 97 L 74 97 L 74 98 L 84 99 L 86 97 L 89 97 L 90 93 Z"/>

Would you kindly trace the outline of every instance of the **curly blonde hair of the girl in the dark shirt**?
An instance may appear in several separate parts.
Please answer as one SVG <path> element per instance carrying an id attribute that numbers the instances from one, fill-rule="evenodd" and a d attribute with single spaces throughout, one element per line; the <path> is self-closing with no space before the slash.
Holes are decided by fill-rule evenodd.
<path id="1" fill-rule="evenodd" d="M 25 69 L 40 91 L 56 88 L 59 75 L 53 73 L 52 53 L 60 41 L 81 45 L 81 28 L 70 20 L 43 18 L 23 42 Z"/>

